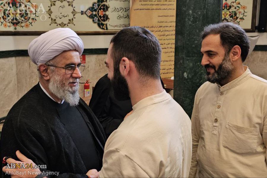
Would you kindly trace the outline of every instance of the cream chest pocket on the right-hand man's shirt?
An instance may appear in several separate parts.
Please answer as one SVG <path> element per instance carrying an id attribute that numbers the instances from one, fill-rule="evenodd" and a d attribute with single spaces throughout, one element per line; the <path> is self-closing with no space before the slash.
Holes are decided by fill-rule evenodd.
<path id="1" fill-rule="evenodd" d="M 235 153 L 253 153 L 256 151 L 259 129 L 241 127 L 227 122 L 222 146 Z"/>

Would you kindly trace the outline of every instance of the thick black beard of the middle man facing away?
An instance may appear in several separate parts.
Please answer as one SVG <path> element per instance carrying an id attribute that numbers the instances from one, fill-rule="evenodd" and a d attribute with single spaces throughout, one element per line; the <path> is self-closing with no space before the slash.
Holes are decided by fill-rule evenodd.
<path id="1" fill-rule="evenodd" d="M 130 99 L 130 92 L 128 83 L 120 73 L 119 69 L 114 69 L 114 75 L 111 79 L 111 86 L 114 91 L 114 96 L 118 101 L 125 101 Z"/>

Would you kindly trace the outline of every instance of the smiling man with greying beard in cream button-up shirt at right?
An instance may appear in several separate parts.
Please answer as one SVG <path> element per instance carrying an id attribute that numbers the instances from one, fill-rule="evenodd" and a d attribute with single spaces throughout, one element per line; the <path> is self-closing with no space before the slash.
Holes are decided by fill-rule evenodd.
<path id="1" fill-rule="evenodd" d="M 219 23 L 202 39 L 208 82 L 195 96 L 189 177 L 267 177 L 267 81 L 243 65 L 247 35 Z"/>

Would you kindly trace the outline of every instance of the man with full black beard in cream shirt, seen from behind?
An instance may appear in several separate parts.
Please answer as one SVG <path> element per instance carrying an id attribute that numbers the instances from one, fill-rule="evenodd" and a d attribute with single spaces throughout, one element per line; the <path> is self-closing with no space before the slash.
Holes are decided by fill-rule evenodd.
<path id="1" fill-rule="evenodd" d="M 188 177 L 191 122 L 162 88 L 160 61 L 158 39 L 145 28 L 112 38 L 108 77 L 116 98 L 131 97 L 133 112 L 109 136 L 99 177 Z"/>

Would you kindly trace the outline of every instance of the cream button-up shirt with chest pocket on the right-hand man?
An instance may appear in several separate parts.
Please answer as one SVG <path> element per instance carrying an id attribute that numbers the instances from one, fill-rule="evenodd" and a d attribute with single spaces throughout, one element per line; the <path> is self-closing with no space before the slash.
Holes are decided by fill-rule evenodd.
<path id="1" fill-rule="evenodd" d="M 198 89 L 189 177 L 267 177 L 267 81 L 244 69 L 222 87 Z"/>

